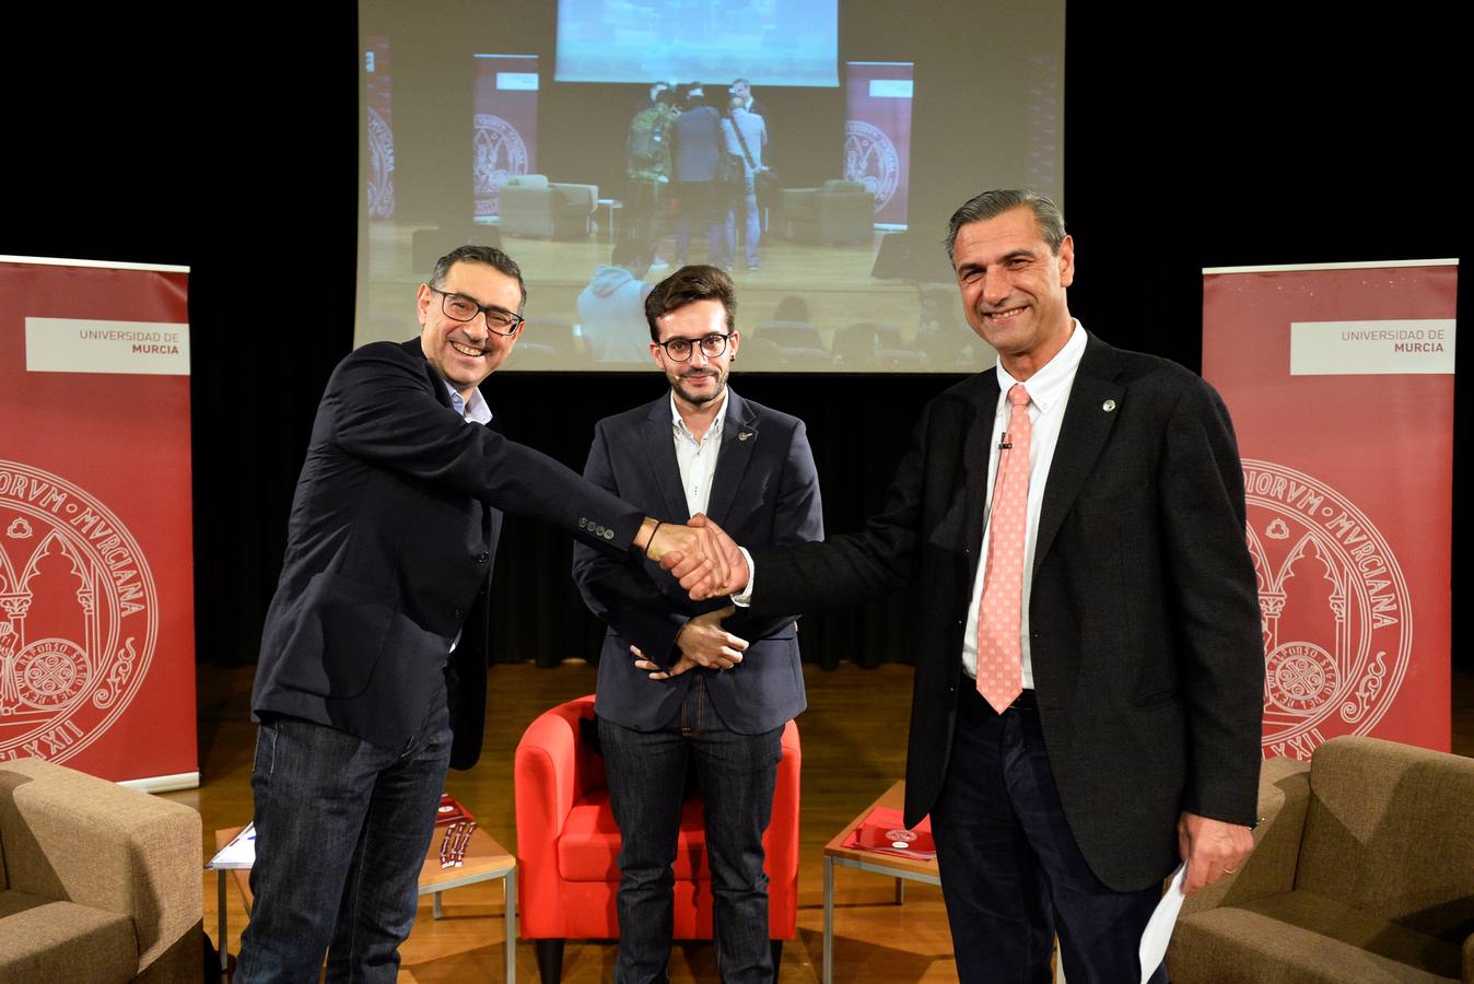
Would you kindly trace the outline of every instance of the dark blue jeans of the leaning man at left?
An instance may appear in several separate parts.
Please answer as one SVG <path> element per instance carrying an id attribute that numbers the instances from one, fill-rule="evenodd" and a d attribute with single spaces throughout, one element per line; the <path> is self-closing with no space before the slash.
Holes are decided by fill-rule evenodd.
<path id="1" fill-rule="evenodd" d="M 236 984 L 315 983 L 324 952 L 329 981 L 395 980 L 450 753 L 444 686 L 398 748 L 296 717 L 261 725 Z"/>

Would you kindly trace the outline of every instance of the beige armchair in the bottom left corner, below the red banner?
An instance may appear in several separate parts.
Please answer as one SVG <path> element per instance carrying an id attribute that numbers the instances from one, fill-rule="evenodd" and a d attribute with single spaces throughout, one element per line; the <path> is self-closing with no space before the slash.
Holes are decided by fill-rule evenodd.
<path id="1" fill-rule="evenodd" d="M 40 759 L 0 765 L 0 981 L 199 981 L 195 810 Z"/>

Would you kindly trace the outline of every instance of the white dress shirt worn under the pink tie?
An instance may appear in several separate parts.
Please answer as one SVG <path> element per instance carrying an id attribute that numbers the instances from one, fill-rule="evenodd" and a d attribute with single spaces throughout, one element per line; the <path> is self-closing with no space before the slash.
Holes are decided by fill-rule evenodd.
<path id="1" fill-rule="evenodd" d="M 1069 342 L 1052 359 L 1030 376 L 1023 387 L 1029 392 L 1029 423 L 1033 430 L 1029 437 L 1029 508 L 1024 519 L 1023 533 L 1023 598 L 1021 617 L 1019 625 L 1020 663 L 1023 669 L 1023 688 L 1033 689 L 1033 660 L 1029 654 L 1029 595 L 1033 592 L 1033 547 L 1039 535 L 1039 507 L 1044 504 L 1044 486 L 1049 479 L 1049 465 L 1054 463 L 1054 445 L 1060 439 L 1060 423 L 1064 420 L 1064 407 L 1070 402 L 1070 387 L 1075 386 L 1075 370 L 1085 355 L 1085 328 L 1079 321 L 1073 323 Z M 983 511 L 986 517 L 993 508 L 993 485 L 998 476 L 998 442 L 1002 440 L 1008 429 L 1008 390 L 1019 380 L 1008 374 L 999 359 L 995 370 L 998 373 L 998 407 L 993 411 L 993 435 L 988 452 L 988 502 Z M 963 630 L 963 672 L 977 678 L 977 608 L 983 597 L 983 577 L 988 567 L 988 538 L 989 530 L 983 527 L 982 554 L 977 561 L 977 577 L 973 580 L 973 602 L 967 610 L 967 628 Z"/>

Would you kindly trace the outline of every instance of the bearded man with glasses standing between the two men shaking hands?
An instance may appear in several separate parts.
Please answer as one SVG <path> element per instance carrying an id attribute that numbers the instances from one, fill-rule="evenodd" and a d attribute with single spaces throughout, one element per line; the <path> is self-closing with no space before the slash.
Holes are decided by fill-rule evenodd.
<path id="1" fill-rule="evenodd" d="M 709 514 L 740 542 L 824 538 L 803 421 L 727 386 L 737 296 L 716 267 L 682 267 L 646 299 L 650 355 L 668 393 L 598 421 L 593 483 L 657 514 Z M 738 532 L 740 530 L 740 532 Z M 619 825 L 622 984 L 663 981 L 687 765 L 706 798 L 713 929 L 724 981 L 772 981 L 762 835 L 784 723 L 805 709 L 793 616 L 753 619 L 693 602 L 659 564 L 632 579 L 607 554 L 573 547 L 573 576 L 609 625 L 594 710 Z M 634 657 L 634 658 L 631 658 Z"/>

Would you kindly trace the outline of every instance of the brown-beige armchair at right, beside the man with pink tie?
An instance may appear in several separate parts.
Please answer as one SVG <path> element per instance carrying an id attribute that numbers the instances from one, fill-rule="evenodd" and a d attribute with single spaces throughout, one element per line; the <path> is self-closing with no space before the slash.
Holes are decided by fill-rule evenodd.
<path id="1" fill-rule="evenodd" d="M 1254 853 L 1182 907 L 1175 984 L 1474 981 L 1474 759 L 1332 738 L 1266 762 Z"/>

